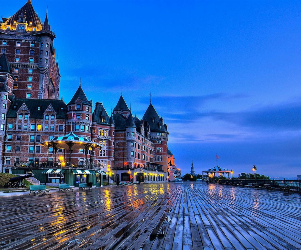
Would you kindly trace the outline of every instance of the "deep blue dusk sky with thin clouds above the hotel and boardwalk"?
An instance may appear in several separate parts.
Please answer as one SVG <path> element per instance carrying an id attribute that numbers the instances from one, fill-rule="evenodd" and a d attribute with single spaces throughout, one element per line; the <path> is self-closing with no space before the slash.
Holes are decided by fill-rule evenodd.
<path id="1" fill-rule="evenodd" d="M 13 15 L 26 0 L 0 3 Z M 55 32 L 61 96 L 79 79 L 110 114 L 120 91 L 162 115 L 182 173 L 216 165 L 301 174 L 300 1 L 37 1 Z"/>

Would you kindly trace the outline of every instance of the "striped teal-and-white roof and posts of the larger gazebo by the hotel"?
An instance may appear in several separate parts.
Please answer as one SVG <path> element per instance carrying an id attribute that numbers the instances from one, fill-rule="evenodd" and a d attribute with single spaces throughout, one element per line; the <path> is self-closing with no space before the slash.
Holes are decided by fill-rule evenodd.
<path id="1" fill-rule="evenodd" d="M 92 141 L 88 140 L 87 138 L 79 137 L 76 134 L 74 134 L 73 132 L 70 132 L 69 134 L 64 135 L 64 136 L 58 136 L 51 140 L 41 142 L 41 143 L 39 143 L 39 145 L 42 145 L 42 146 L 45 146 L 48 148 L 48 158 L 49 158 L 49 148 L 54 149 L 55 158 L 56 158 L 57 149 L 62 148 L 62 149 L 69 150 L 69 161 L 67 164 L 68 167 L 71 166 L 71 154 L 72 154 L 73 150 L 76 150 L 76 149 L 85 150 L 85 162 L 86 162 L 87 161 L 87 152 L 88 152 L 89 148 L 91 148 L 93 151 L 94 148 L 102 147 L 102 145 L 100 145 L 99 143 L 92 142 Z M 93 154 L 91 154 L 90 163 L 93 162 L 92 160 L 93 160 Z"/>

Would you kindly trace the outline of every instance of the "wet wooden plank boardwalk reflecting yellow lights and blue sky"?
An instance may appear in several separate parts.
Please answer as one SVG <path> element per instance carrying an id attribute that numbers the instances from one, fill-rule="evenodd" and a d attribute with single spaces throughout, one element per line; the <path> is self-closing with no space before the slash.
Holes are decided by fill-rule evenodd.
<path id="1" fill-rule="evenodd" d="M 301 249 L 301 197 L 197 183 L 0 197 L 0 249 Z"/>

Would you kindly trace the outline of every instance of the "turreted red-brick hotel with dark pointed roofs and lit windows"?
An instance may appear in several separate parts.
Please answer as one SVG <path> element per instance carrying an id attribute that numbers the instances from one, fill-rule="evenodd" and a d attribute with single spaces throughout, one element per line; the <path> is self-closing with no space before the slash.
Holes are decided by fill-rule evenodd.
<path id="1" fill-rule="evenodd" d="M 132 116 L 122 95 L 110 116 L 103 103 L 93 107 L 81 84 L 68 104 L 59 100 L 61 75 L 54 39 L 47 13 L 42 24 L 30 0 L 12 17 L 2 17 L 0 171 L 30 167 L 44 173 L 59 155 L 66 159 L 69 152 L 39 143 L 72 131 L 102 148 L 74 150 L 66 162 L 70 169 L 104 170 L 113 181 L 172 181 L 175 164 L 167 148 L 169 132 L 151 102 L 140 120 Z M 43 182 L 58 182 L 57 174 L 46 175 Z"/>

